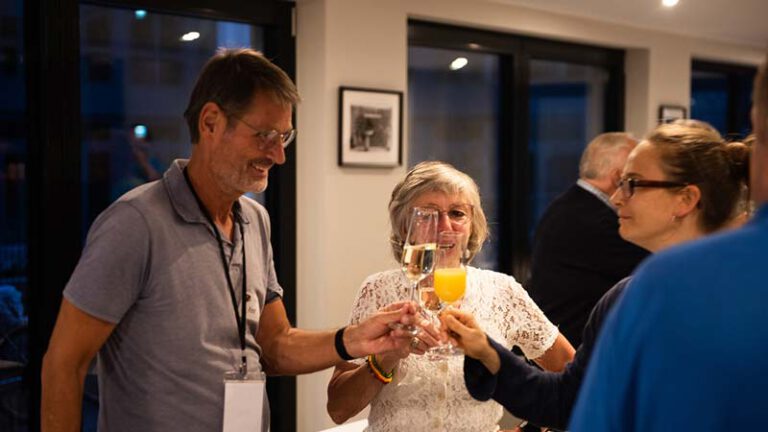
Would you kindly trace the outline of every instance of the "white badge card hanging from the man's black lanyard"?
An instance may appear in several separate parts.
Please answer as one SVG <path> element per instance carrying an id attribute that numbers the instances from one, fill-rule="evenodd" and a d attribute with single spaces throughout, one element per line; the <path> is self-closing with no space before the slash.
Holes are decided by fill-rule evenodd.
<path id="1" fill-rule="evenodd" d="M 234 374 L 233 374 L 234 375 Z M 263 432 L 266 381 L 264 374 L 250 373 L 244 378 L 224 377 L 223 432 Z"/>

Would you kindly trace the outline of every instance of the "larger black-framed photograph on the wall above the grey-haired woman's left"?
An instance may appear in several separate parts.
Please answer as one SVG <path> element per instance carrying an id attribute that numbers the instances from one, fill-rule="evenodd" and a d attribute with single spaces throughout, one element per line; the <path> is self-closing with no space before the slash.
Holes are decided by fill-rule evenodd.
<path id="1" fill-rule="evenodd" d="M 339 87 L 339 165 L 402 164 L 403 92 Z"/>

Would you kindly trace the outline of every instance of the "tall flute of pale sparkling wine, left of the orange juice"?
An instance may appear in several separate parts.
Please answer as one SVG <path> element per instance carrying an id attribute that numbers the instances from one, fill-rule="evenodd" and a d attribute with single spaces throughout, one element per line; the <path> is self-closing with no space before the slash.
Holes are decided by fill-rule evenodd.
<path id="1" fill-rule="evenodd" d="M 424 207 L 414 207 L 411 212 L 400 264 L 411 284 L 409 300 L 414 302 L 419 301 L 419 282 L 429 276 L 435 267 L 438 215 L 437 210 Z M 418 331 L 414 326 L 404 328 L 414 334 Z"/>

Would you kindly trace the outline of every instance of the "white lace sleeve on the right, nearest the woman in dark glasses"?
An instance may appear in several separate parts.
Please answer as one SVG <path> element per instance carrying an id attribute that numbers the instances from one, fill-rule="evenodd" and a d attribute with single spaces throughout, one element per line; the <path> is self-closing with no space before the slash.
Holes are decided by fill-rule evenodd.
<path id="1" fill-rule="evenodd" d="M 508 320 L 507 340 L 517 345 L 529 359 L 541 357 L 557 339 L 558 330 L 533 302 L 528 292 L 512 276 L 506 276 L 499 290 L 501 303 L 512 311 Z"/>

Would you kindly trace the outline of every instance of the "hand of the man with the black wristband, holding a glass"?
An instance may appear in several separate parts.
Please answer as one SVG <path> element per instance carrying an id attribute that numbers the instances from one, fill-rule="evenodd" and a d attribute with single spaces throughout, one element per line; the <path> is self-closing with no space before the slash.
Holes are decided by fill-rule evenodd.
<path id="1" fill-rule="evenodd" d="M 416 310 L 413 302 L 392 303 L 359 324 L 348 326 L 344 331 L 344 346 L 347 352 L 353 357 L 364 357 L 368 354 L 406 349 L 413 339 L 413 333 L 405 329 L 393 330 L 390 324 L 416 324 L 419 319 Z"/>

